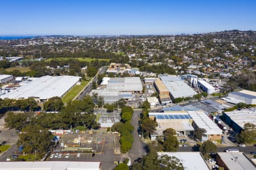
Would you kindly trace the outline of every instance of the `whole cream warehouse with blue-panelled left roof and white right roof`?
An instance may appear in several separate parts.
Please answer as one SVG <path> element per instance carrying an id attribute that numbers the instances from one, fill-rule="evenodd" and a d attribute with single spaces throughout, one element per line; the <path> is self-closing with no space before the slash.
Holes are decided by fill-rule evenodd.
<path id="1" fill-rule="evenodd" d="M 205 137 L 202 141 L 221 140 L 222 130 L 204 113 L 204 111 L 176 111 L 164 113 L 148 113 L 151 120 L 158 123 L 153 140 L 162 135 L 167 128 L 172 128 L 177 135 L 187 135 L 196 128 L 205 129 Z"/>

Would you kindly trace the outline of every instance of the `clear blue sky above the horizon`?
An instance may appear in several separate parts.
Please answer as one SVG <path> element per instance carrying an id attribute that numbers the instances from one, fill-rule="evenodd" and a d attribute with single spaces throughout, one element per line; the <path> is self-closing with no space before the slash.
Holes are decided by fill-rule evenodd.
<path id="1" fill-rule="evenodd" d="M 256 1 L 2 0 L 0 35 L 175 35 L 256 31 Z"/>

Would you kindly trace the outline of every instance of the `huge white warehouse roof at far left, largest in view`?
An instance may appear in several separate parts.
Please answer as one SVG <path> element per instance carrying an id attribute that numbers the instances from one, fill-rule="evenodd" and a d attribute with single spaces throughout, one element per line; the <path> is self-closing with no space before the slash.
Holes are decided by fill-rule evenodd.
<path id="1" fill-rule="evenodd" d="M 30 83 L 0 96 L 2 99 L 27 99 L 29 97 L 46 100 L 54 96 L 62 97 L 78 81 L 79 76 L 42 76 L 32 80 Z"/>

